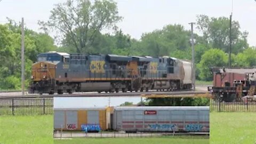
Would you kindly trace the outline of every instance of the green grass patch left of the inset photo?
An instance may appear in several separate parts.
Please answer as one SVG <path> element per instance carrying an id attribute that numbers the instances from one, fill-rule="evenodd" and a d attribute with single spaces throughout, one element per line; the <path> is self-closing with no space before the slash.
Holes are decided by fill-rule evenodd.
<path id="1" fill-rule="evenodd" d="M 53 115 L 0 116 L 0 143 L 53 143 Z"/>

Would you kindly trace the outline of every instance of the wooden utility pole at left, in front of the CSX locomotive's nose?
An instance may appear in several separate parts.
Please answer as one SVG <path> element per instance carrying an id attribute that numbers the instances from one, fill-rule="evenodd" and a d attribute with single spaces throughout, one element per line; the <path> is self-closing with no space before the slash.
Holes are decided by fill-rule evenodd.
<path id="1" fill-rule="evenodd" d="M 25 88 L 25 63 L 24 63 L 24 19 L 21 19 L 21 91 L 24 96 Z"/>

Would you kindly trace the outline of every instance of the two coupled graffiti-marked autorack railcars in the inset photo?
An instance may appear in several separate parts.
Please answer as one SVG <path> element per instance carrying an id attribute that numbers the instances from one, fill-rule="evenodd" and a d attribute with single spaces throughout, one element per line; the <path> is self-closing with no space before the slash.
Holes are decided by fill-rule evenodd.
<path id="1" fill-rule="evenodd" d="M 54 108 L 57 131 L 209 132 L 209 107 Z"/>

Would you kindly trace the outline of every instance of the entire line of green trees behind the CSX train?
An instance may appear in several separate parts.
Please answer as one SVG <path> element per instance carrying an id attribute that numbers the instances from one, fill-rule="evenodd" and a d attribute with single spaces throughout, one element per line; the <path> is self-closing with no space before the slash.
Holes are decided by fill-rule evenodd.
<path id="1" fill-rule="evenodd" d="M 42 33 L 25 29 L 26 85 L 36 55 L 48 51 L 152 57 L 167 55 L 191 60 L 191 31 L 184 26 L 166 25 L 143 33 L 140 39 L 134 39 L 117 27 L 122 19 L 116 2 L 112 0 L 67 0 L 54 5 L 49 20 L 38 21 Z M 9 23 L 0 25 L 0 89 L 19 89 L 21 29 L 20 23 L 8 20 Z M 196 78 L 212 81 L 210 68 L 228 65 L 229 18 L 197 15 L 196 29 L 199 31 L 199 34 L 195 34 Z M 102 32 L 106 30 L 111 33 Z M 54 38 L 49 35 L 50 31 L 56 32 Z M 255 66 L 256 50 L 247 43 L 247 35 L 248 32 L 241 30 L 238 21 L 232 21 L 233 67 Z"/>

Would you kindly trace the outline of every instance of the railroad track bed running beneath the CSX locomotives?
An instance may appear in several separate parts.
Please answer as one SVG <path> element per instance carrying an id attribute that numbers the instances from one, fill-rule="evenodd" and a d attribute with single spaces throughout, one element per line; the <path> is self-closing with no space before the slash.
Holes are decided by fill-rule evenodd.
<path id="1" fill-rule="evenodd" d="M 75 93 L 75 94 L 34 94 L 0 96 L 0 99 L 27 99 L 27 98 L 53 98 L 53 97 L 148 97 L 148 98 L 178 98 L 178 97 L 210 97 L 205 91 L 162 91 L 162 92 L 126 92 L 126 93 Z"/>

